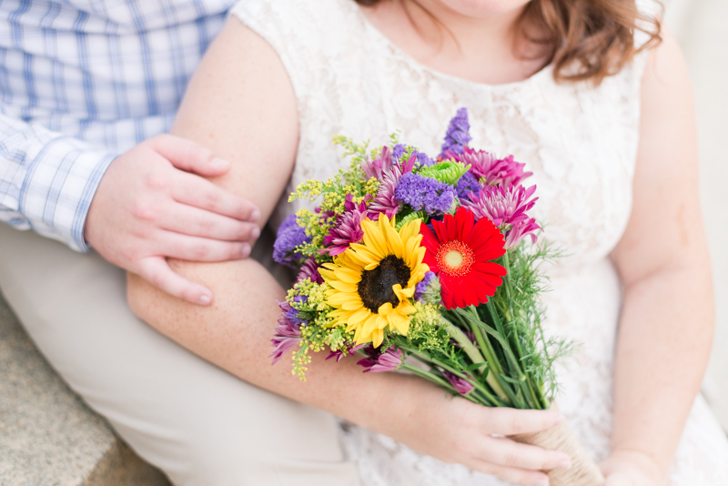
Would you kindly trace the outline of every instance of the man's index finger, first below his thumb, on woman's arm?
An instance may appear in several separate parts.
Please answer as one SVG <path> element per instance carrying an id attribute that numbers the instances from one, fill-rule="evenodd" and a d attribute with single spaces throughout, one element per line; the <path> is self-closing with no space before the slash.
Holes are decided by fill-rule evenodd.
<path id="1" fill-rule="evenodd" d="M 178 176 L 171 189 L 177 202 L 251 223 L 260 218 L 258 207 L 243 197 L 227 192 L 202 177 L 192 174 Z"/>

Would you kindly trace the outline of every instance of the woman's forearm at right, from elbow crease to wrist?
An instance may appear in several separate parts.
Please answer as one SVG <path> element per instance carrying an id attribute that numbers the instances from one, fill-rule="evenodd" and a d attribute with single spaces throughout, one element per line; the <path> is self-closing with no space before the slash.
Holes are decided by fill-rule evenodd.
<path id="1" fill-rule="evenodd" d="M 625 289 L 612 451 L 645 454 L 667 473 L 712 336 L 710 276 L 703 266 L 656 272 Z"/>

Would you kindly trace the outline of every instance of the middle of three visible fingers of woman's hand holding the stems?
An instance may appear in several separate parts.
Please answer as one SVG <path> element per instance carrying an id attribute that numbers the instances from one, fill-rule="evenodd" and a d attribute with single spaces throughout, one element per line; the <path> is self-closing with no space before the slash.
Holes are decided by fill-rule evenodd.
<path id="1" fill-rule="evenodd" d="M 505 438 L 488 438 L 483 444 L 483 458 L 489 462 L 510 468 L 534 471 L 568 469 L 571 459 L 563 452 L 547 451 L 528 444 Z"/>

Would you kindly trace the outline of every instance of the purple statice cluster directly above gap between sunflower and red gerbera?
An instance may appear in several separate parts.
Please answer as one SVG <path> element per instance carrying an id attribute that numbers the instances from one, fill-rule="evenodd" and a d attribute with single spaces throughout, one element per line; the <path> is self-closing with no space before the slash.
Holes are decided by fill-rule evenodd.
<path id="1" fill-rule="evenodd" d="M 419 174 L 405 174 L 399 179 L 394 197 L 415 211 L 428 214 L 447 213 L 452 208 L 455 190 L 449 184 Z"/>

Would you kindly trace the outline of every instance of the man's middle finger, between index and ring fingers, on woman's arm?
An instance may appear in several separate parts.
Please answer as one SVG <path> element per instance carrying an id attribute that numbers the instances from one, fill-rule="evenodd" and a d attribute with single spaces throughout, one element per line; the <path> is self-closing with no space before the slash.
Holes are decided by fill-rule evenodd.
<path id="1" fill-rule="evenodd" d="M 159 218 L 163 229 L 187 236 L 220 239 L 226 241 L 248 241 L 251 245 L 260 236 L 255 223 L 247 223 L 204 209 L 174 203 L 167 208 L 164 218 Z"/>

